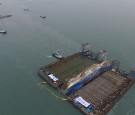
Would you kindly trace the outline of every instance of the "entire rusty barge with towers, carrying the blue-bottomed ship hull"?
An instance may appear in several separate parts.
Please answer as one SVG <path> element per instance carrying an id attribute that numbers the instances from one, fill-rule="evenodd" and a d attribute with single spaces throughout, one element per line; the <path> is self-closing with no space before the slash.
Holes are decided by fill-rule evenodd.
<path id="1" fill-rule="evenodd" d="M 59 89 L 86 115 L 105 115 L 134 84 L 135 69 L 126 73 L 119 62 L 106 60 L 82 44 L 81 52 L 41 67 L 38 74 Z"/>

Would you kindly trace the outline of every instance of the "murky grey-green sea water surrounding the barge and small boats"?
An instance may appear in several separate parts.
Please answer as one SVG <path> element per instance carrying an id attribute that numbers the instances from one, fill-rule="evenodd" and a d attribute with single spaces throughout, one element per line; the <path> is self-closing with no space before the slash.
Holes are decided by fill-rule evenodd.
<path id="1" fill-rule="evenodd" d="M 0 2 L 0 14 L 13 15 L 0 20 L 7 30 L 0 34 L 0 115 L 82 115 L 37 85 L 37 69 L 55 61 L 49 58 L 52 52 L 67 56 L 89 42 L 92 50 L 106 49 L 109 59 L 120 60 L 123 69 L 135 66 L 134 0 Z M 108 115 L 134 115 L 134 95 L 132 87 Z"/>

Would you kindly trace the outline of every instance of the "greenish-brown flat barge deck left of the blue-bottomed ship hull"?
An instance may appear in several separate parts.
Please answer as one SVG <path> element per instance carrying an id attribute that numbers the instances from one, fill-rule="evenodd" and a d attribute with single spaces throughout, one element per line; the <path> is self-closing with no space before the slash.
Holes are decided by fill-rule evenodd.
<path id="1" fill-rule="evenodd" d="M 64 82 L 73 78 L 80 71 L 84 70 L 86 67 L 96 63 L 96 61 L 91 60 L 86 56 L 80 55 L 80 53 L 75 53 L 69 57 L 62 60 L 58 60 L 54 63 L 41 67 L 38 71 L 39 75 L 47 80 L 53 87 L 58 88 Z M 47 74 L 53 74 L 57 76 L 59 80 L 53 81 L 47 76 Z"/>

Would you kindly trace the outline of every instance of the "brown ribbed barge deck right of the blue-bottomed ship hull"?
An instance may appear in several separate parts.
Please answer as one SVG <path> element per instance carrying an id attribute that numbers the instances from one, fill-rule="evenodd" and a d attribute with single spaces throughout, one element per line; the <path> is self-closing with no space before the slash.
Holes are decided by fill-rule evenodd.
<path id="1" fill-rule="evenodd" d="M 114 71 L 108 71 L 76 91 L 70 101 L 86 115 L 91 115 L 83 105 L 75 102 L 77 97 L 82 97 L 94 106 L 94 115 L 105 115 L 133 83 L 131 78 L 124 78 Z"/>

